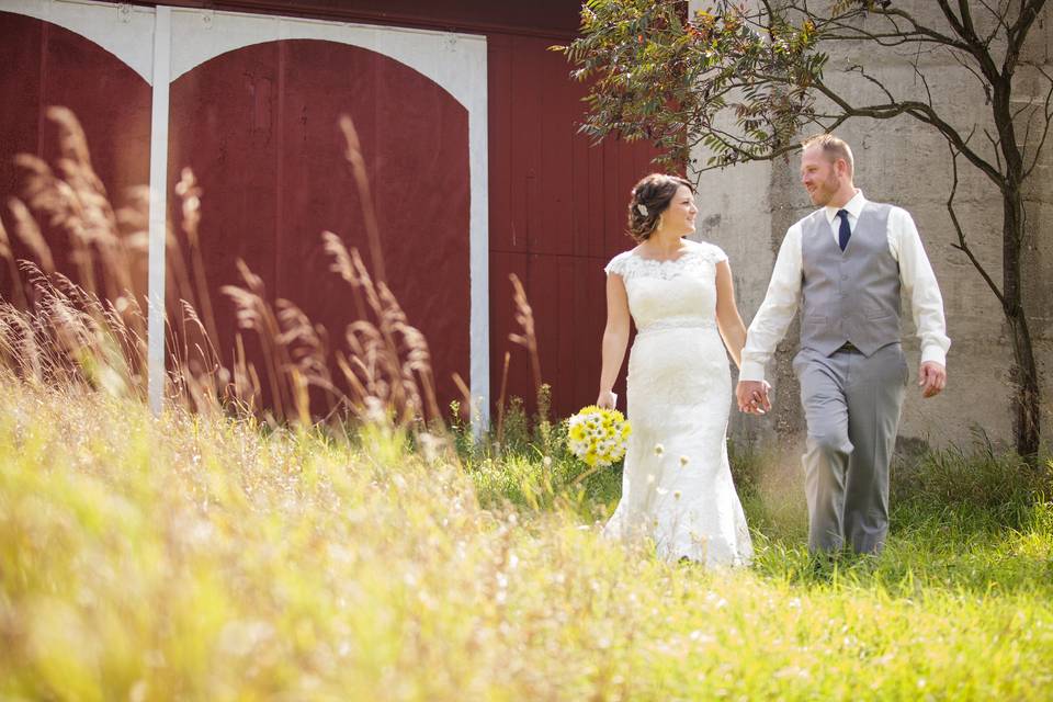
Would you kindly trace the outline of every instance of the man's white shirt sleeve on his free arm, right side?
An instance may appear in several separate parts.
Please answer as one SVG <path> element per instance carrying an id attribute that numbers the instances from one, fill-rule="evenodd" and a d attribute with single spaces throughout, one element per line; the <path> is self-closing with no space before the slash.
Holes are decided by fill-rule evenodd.
<path id="1" fill-rule="evenodd" d="M 946 367 L 951 340 L 947 336 L 943 296 L 918 228 L 910 214 L 899 207 L 893 208 L 888 224 L 898 244 L 899 278 L 921 342 L 921 362 L 935 361 Z"/>

